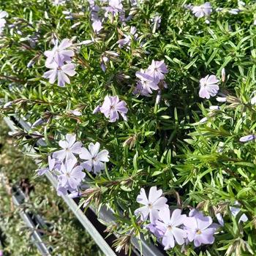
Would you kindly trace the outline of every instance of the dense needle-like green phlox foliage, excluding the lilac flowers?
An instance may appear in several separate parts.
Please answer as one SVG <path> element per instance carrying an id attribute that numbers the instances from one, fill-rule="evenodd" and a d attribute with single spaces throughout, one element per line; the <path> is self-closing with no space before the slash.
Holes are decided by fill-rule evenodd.
<path id="1" fill-rule="evenodd" d="M 242 136 L 256 133 L 256 107 L 250 103 L 256 90 L 256 4 L 245 2 L 238 15 L 212 12 L 207 24 L 184 8 L 188 1 L 144 1 L 132 7 L 129 26 L 121 25 L 118 18 L 108 20 L 98 36 L 91 28 L 87 1 L 58 7 L 47 0 L 1 2 L 1 9 L 9 13 L 7 23 L 14 25 L 0 38 L 0 97 L 4 103 L 13 101 L 1 113 L 15 113 L 31 123 L 45 118 L 42 127 L 31 129 L 48 144 L 39 148 L 45 162 L 67 133 L 75 133 L 84 145 L 98 141 L 108 149 L 110 163 L 105 172 L 86 176 L 95 188 L 90 198 L 97 200 L 99 208 L 108 204 L 116 212 L 118 225 L 109 230 L 124 236 L 148 234 L 134 217 L 135 200 L 141 187 L 157 186 L 170 206 L 184 211 L 197 207 L 215 222 L 218 212 L 224 215 L 225 227 L 216 242 L 199 249 L 189 246 L 187 255 L 255 255 L 256 147 L 255 140 L 239 142 Z M 127 7 L 129 1 L 123 4 Z M 211 1 L 211 5 L 230 10 L 238 2 Z M 78 15 L 82 7 L 83 15 Z M 64 10 L 77 13 L 74 20 L 65 19 Z M 150 20 L 157 13 L 162 23 L 153 33 Z M 132 39 L 129 50 L 119 49 L 116 42 L 130 26 L 138 29 L 139 39 Z M 34 36 L 37 42 L 32 48 L 29 39 Z M 51 39 L 82 42 L 91 37 L 96 38 L 93 44 L 75 50 L 78 74 L 69 85 L 61 88 L 42 78 L 47 70 L 43 52 L 52 48 Z M 119 56 L 111 56 L 111 50 Z M 110 58 L 106 72 L 99 65 L 102 56 Z M 27 68 L 31 59 L 35 64 Z M 146 69 L 152 59 L 165 60 L 169 69 L 159 104 L 157 93 L 152 97 L 132 94 L 135 72 Z M 219 86 L 228 95 L 227 102 L 200 99 L 200 78 L 209 74 L 220 78 L 222 68 L 226 78 Z M 118 95 L 127 102 L 128 121 L 109 123 L 102 114 L 92 114 L 106 95 Z M 208 109 L 217 104 L 220 110 Z M 75 109 L 82 116 L 69 112 Z M 208 120 L 200 123 L 203 117 Z M 238 223 L 241 214 L 236 218 L 230 214 L 229 206 L 235 201 L 241 203 L 241 214 L 247 215 L 248 222 Z M 182 255 L 178 246 L 174 251 Z"/>

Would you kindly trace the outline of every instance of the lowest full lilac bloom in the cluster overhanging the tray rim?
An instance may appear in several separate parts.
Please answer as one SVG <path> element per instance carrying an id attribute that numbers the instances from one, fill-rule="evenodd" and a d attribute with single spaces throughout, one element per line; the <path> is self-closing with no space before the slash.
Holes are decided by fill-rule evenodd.
<path id="1" fill-rule="evenodd" d="M 65 163 L 61 165 L 61 174 L 58 176 L 59 183 L 61 187 L 65 187 L 67 184 L 72 189 L 77 189 L 80 182 L 86 176 L 86 173 L 83 173 L 83 167 L 77 165 L 77 159 L 67 159 Z"/>

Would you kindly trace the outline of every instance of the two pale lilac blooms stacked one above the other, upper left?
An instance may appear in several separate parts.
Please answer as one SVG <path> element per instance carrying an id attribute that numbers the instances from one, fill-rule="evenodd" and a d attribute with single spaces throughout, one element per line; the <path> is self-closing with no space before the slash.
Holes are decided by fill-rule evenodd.
<path id="1" fill-rule="evenodd" d="M 72 45 L 71 40 L 63 39 L 59 44 L 59 41 L 54 42 L 53 50 L 46 50 L 45 67 L 50 70 L 45 72 L 44 78 L 49 79 L 49 83 L 54 83 L 58 79 L 58 86 L 64 87 L 65 83 L 70 83 L 68 76 L 74 76 L 75 64 L 72 64 L 72 57 L 75 56 L 73 50 L 70 50 Z"/>

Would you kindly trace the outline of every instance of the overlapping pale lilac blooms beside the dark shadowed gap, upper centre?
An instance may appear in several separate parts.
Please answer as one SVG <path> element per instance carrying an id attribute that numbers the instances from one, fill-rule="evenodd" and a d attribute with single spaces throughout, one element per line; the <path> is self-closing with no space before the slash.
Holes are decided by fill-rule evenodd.
<path id="1" fill-rule="evenodd" d="M 151 65 L 146 69 L 140 69 L 136 72 L 138 78 L 134 94 L 150 96 L 152 90 L 159 90 L 159 85 L 165 85 L 164 79 L 168 69 L 165 61 L 152 61 Z"/>

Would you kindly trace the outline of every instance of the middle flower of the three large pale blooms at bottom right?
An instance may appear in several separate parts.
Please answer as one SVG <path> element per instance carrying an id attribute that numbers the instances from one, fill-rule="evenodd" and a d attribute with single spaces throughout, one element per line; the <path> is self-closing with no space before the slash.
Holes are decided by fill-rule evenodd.
<path id="1" fill-rule="evenodd" d="M 165 211 L 160 211 L 159 218 L 162 222 L 157 221 L 156 224 L 159 227 L 165 228 L 165 234 L 162 237 L 162 244 L 165 246 L 165 250 L 173 248 L 175 246 L 175 241 L 179 245 L 184 244 L 185 238 L 187 238 L 187 233 L 179 226 L 184 224 L 184 220 L 187 216 L 181 214 L 180 209 L 176 209 L 170 217 L 170 210 L 165 209 Z"/>

